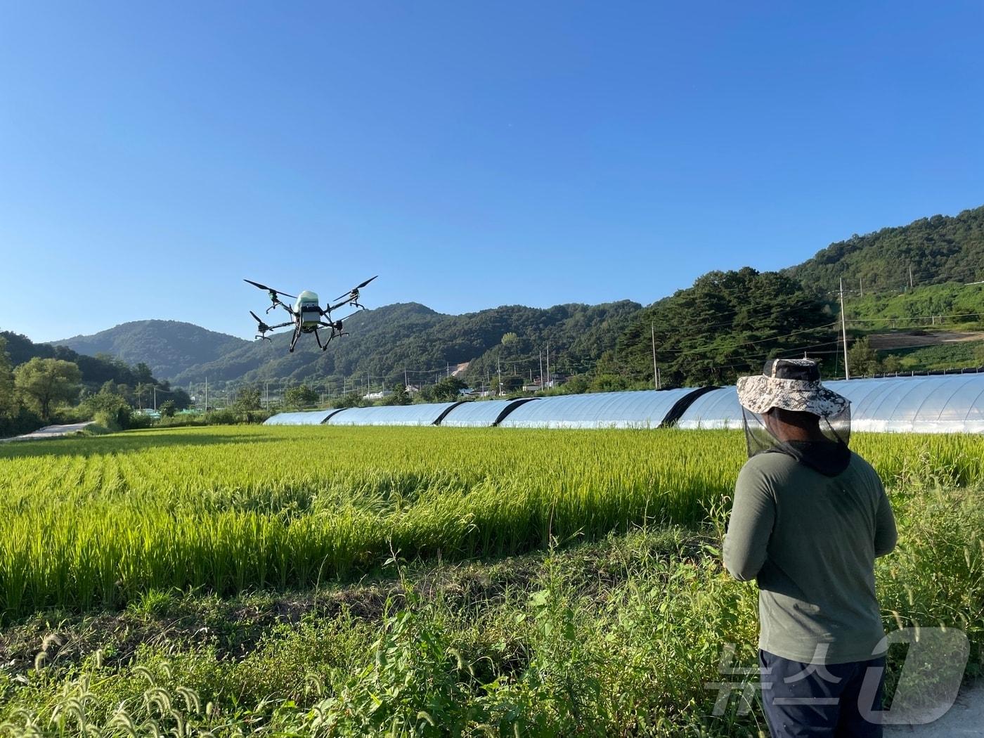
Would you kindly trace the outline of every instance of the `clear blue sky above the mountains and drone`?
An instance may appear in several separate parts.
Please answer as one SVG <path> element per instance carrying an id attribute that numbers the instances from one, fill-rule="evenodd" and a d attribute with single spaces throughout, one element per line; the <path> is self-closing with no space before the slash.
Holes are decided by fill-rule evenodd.
<path id="1" fill-rule="evenodd" d="M 979 2 L 7 3 L 0 328 L 630 298 L 984 203 Z M 296 294 L 296 292 L 294 292 Z"/>

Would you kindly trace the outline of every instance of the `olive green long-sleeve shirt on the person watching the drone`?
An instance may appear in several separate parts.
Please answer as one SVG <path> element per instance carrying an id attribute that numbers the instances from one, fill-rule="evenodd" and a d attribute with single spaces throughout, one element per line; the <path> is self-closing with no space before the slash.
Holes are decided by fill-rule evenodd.
<path id="1" fill-rule="evenodd" d="M 875 558 L 895 540 L 882 481 L 856 454 L 832 477 L 785 454 L 747 461 L 724 565 L 736 579 L 758 581 L 759 647 L 802 662 L 872 658 L 885 636 Z"/>

